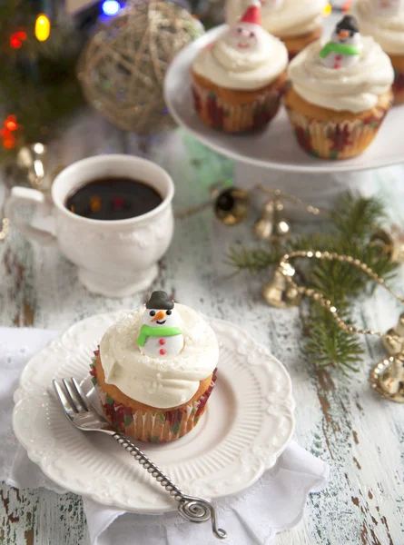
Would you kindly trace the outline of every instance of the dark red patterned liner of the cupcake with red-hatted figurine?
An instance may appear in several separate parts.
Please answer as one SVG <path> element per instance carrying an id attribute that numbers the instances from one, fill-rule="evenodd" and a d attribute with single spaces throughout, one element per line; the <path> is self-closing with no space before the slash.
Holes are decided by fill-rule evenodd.
<path id="1" fill-rule="evenodd" d="M 261 131 L 278 113 L 282 87 L 274 85 L 254 95 L 245 104 L 230 104 L 210 89 L 192 83 L 195 110 L 203 123 L 224 133 L 240 134 Z"/>

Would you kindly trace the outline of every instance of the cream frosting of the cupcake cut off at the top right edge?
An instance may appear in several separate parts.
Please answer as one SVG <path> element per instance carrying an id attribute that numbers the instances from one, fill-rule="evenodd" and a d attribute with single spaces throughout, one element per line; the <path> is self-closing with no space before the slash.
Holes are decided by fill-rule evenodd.
<path id="1" fill-rule="evenodd" d="M 360 34 L 370 35 L 389 54 L 404 54 L 404 7 L 398 15 L 377 15 L 370 0 L 359 0 L 351 9 L 357 18 Z"/>

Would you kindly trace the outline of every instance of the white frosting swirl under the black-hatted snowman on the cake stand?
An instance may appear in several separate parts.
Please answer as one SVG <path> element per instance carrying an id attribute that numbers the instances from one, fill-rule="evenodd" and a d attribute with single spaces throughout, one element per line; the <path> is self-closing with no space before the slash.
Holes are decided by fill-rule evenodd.
<path id="1" fill-rule="evenodd" d="M 289 78 L 296 93 L 310 104 L 337 111 L 364 112 L 389 90 L 394 71 L 379 44 L 362 38 L 363 48 L 356 64 L 328 68 L 320 62 L 320 40 L 306 47 L 289 65 Z"/>

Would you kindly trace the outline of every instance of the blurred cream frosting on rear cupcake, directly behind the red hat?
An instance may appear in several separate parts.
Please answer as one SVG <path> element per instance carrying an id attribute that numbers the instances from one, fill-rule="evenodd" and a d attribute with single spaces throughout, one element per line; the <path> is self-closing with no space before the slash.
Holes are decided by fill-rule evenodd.
<path id="1" fill-rule="evenodd" d="M 328 0 L 261 0 L 261 22 L 269 33 L 281 37 L 309 34 L 322 25 L 322 10 Z M 249 0 L 227 0 L 226 22 L 233 25 Z"/>

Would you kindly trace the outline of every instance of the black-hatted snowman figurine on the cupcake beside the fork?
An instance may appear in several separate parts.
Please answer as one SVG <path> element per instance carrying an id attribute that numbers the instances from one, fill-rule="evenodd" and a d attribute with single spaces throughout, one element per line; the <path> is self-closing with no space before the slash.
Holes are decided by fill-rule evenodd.
<path id="1" fill-rule="evenodd" d="M 179 312 L 166 292 L 153 292 L 146 302 L 143 325 L 137 338 L 141 352 L 151 358 L 171 358 L 183 348 Z"/>

